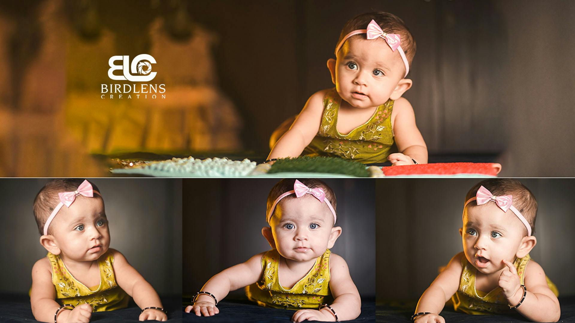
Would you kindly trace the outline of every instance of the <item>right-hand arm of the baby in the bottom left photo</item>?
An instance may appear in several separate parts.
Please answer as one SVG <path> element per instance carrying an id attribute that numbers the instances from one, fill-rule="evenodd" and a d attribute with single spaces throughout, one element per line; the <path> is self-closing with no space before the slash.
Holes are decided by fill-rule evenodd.
<path id="1" fill-rule="evenodd" d="M 122 253 L 114 249 L 110 250 L 114 256 L 113 268 L 118 286 L 134 299 L 140 309 L 150 306 L 163 307 L 154 287 L 128 263 Z M 147 309 L 139 317 L 140 321 L 166 321 L 167 319 L 166 313 L 156 309 Z"/>

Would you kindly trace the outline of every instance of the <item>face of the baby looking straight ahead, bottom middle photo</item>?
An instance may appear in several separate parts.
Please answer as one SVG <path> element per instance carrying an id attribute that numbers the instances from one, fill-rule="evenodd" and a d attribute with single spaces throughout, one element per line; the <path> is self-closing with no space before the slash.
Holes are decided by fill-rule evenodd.
<path id="1" fill-rule="evenodd" d="M 283 199 L 271 220 L 275 247 L 286 259 L 299 262 L 323 255 L 333 228 L 333 214 L 312 195 Z"/>

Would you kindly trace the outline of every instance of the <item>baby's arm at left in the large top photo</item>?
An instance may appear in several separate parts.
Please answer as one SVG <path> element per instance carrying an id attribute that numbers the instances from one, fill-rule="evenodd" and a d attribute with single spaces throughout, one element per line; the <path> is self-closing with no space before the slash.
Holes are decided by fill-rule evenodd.
<path id="1" fill-rule="evenodd" d="M 309 97 L 296 121 L 275 143 L 267 159 L 298 157 L 301 155 L 301 152 L 312 142 L 313 137 L 316 136 L 317 130 L 320 128 L 323 98 L 326 91 L 328 90 L 318 91 Z"/>

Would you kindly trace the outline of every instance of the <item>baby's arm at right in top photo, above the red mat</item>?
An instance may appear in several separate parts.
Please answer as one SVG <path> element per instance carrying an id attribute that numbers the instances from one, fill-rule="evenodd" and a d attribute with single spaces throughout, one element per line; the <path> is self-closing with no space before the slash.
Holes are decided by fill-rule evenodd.
<path id="1" fill-rule="evenodd" d="M 417 129 L 415 113 L 407 99 L 399 98 L 393 103 L 392 121 L 393 135 L 400 151 L 388 157 L 393 166 L 411 165 L 411 159 L 418 164 L 427 164 L 427 145 Z"/>

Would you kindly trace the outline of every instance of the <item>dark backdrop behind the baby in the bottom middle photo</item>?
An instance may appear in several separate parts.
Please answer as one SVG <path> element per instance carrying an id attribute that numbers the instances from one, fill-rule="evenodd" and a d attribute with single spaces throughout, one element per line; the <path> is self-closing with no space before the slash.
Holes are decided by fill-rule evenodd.
<path id="1" fill-rule="evenodd" d="M 324 179 L 322 179 L 324 180 Z M 183 179 L 183 294 L 271 249 L 262 236 L 266 199 L 278 179 Z M 375 191 L 369 179 L 325 179 L 338 198 L 343 257 L 362 297 L 375 296 Z M 244 295 L 243 289 L 230 295 Z"/>

